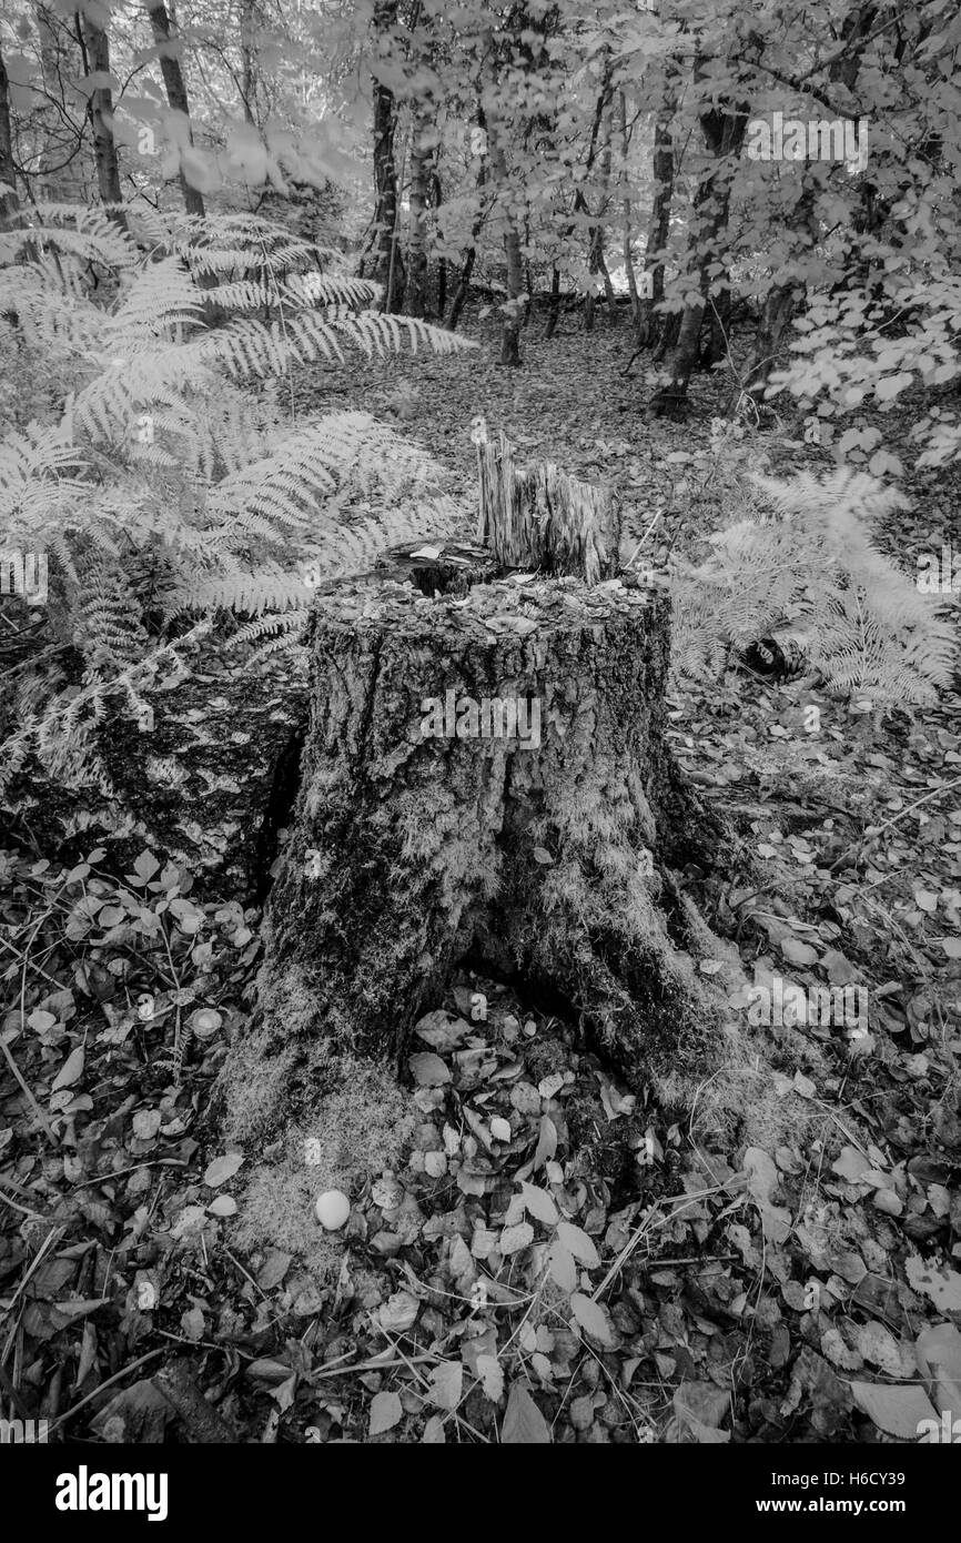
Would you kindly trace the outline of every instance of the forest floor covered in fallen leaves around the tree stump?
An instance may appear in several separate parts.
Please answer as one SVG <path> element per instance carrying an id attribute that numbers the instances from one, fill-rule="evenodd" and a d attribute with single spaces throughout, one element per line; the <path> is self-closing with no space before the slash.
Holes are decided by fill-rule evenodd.
<path id="1" fill-rule="evenodd" d="M 682 457 L 727 384 L 700 380 L 688 423 L 645 423 L 626 326 L 565 326 L 524 336 L 520 372 L 481 319 L 478 352 L 315 373 L 302 398 L 392 415 L 463 495 L 483 414 L 523 455 L 614 480 L 639 540 L 657 514 L 652 560 L 694 551 L 716 488 Z M 776 469 L 831 464 L 796 420 L 753 443 Z M 887 539 L 913 571 L 961 532 L 942 475 L 907 486 Z M 202 1123 L 258 913 L 168 907 L 150 858 L 119 883 L 96 855 L 68 875 L 0 853 L 3 1410 L 119 1441 L 199 1440 L 216 1407 L 239 1440 L 288 1443 L 913 1441 L 961 1412 L 958 705 L 879 721 L 805 679 L 676 684 L 674 750 L 737 841 L 697 898 L 748 978 L 865 986 L 868 1032 L 756 1031 L 765 1140 L 747 1109 L 626 1096 L 571 1025 L 458 980 L 412 1046 L 406 1150 L 352 1190 L 329 1279 L 236 1245 L 242 1160 Z M 191 978 L 168 926 L 199 934 Z M 171 1356 L 176 1415 L 153 1381 Z"/>

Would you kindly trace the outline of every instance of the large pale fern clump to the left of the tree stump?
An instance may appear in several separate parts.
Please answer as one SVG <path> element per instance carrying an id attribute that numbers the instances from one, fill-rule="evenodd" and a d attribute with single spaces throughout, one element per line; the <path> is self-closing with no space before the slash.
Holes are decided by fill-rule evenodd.
<path id="1" fill-rule="evenodd" d="M 245 639 L 282 639 L 304 574 L 367 566 L 423 529 L 426 500 L 432 528 L 455 523 L 433 463 L 390 427 L 298 417 L 298 364 L 469 347 L 381 315 L 336 261 L 250 214 L 134 210 L 120 228 L 42 205 L 0 233 L 0 361 L 20 383 L 0 397 L 0 548 L 49 557 L 43 647 L 8 671 L 0 792 L 31 751 L 103 785 L 96 724 L 108 705 L 142 717 L 148 680 L 204 631 L 233 614 Z"/>

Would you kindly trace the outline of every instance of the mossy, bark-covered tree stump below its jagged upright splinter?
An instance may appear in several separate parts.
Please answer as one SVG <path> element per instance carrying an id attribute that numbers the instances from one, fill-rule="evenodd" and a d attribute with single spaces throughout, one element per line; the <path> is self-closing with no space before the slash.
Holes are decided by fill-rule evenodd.
<path id="1" fill-rule="evenodd" d="M 700 1063 L 720 998 L 674 870 L 710 864 L 717 827 L 665 741 L 666 597 L 364 577 L 318 602 L 309 647 L 259 1004 L 224 1074 L 231 1134 L 301 1117 L 344 1054 L 395 1062 L 464 960 L 552 989 L 636 1086 Z"/>

